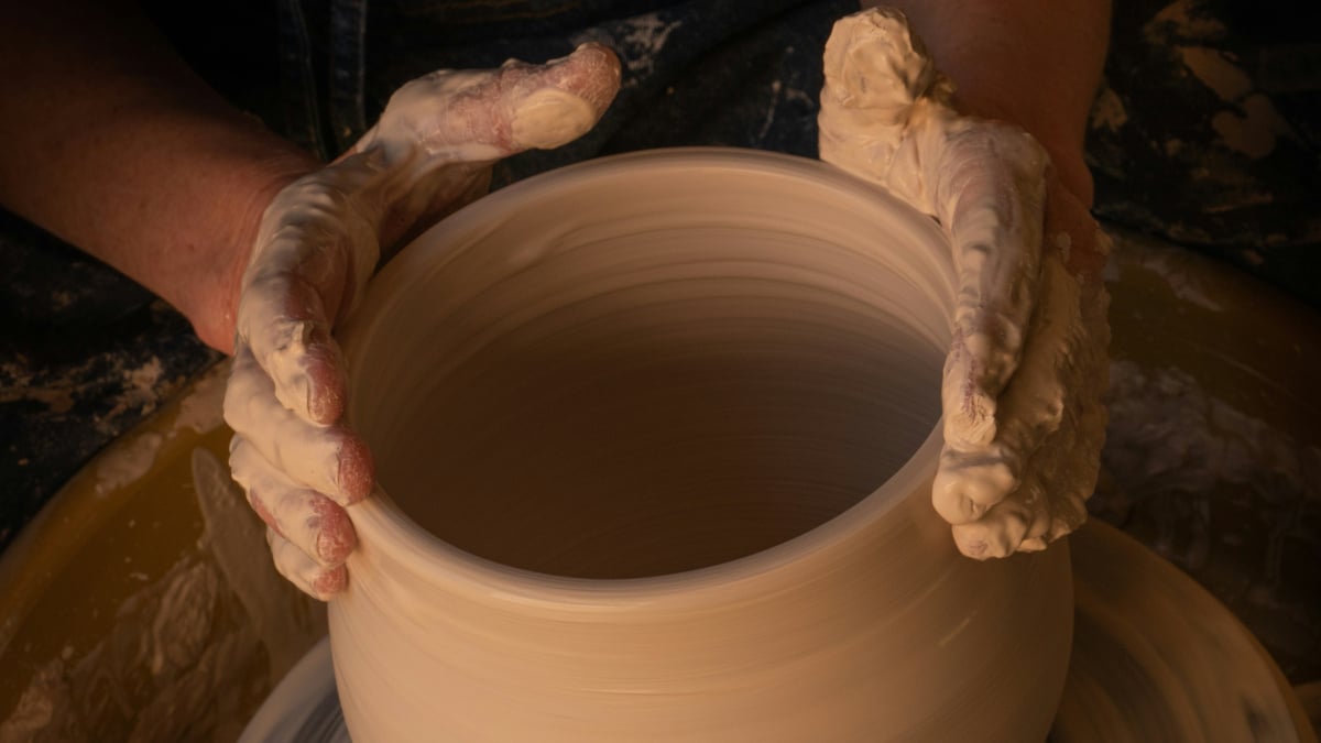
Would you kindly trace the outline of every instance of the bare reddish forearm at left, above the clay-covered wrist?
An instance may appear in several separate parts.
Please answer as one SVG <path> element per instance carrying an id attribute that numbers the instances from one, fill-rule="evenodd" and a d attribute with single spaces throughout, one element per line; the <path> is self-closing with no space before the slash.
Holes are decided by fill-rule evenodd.
<path id="1" fill-rule="evenodd" d="M 0 204 L 229 350 L 258 219 L 316 160 L 231 108 L 132 3 L 5 3 L 0 69 Z"/>

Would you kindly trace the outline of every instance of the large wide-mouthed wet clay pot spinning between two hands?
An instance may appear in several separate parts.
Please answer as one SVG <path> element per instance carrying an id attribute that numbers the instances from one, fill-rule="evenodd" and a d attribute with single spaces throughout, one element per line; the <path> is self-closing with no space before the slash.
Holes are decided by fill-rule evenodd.
<path id="1" fill-rule="evenodd" d="M 951 282 L 926 217 L 752 151 L 419 238 L 343 333 L 384 490 L 330 606 L 353 736 L 1045 739 L 1067 549 L 974 562 L 930 505 Z"/>

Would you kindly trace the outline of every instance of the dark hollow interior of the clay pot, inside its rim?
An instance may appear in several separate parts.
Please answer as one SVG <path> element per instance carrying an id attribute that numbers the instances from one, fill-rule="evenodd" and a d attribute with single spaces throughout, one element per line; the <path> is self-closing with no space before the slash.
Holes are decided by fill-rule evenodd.
<path id="1" fill-rule="evenodd" d="M 555 229 L 528 206 L 390 279 L 353 423 L 408 517 L 507 566 L 642 578 L 793 539 L 913 456 L 947 297 L 875 226 L 700 200 Z"/>

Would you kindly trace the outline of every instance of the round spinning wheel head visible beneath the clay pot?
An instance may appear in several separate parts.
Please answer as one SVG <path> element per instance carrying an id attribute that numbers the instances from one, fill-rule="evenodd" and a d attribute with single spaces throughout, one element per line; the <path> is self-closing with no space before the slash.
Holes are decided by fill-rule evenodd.
<path id="1" fill-rule="evenodd" d="M 1052 743 L 1316 740 L 1266 650 L 1188 575 L 1102 521 L 1070 539 L 1074 645 Z M 329 640 L 276 687 L 242 740 L 349 740 Z"/>

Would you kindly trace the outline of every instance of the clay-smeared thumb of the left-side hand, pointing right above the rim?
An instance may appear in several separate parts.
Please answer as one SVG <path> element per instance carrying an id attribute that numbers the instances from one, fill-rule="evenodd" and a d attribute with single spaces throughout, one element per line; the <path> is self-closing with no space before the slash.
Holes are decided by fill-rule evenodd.
<path id="1" fill-rule="evenodd" d="M 559 147 L 596 124 L 618 86 L 620 62 L 598 44 L 544 65 L 441 70 L 399 89 L 357 149 L 398 160 L 420 144 L 437 161 L 482 163 Z"/>

